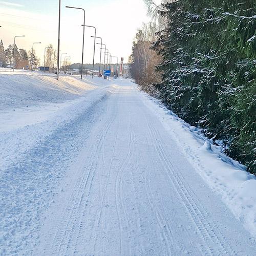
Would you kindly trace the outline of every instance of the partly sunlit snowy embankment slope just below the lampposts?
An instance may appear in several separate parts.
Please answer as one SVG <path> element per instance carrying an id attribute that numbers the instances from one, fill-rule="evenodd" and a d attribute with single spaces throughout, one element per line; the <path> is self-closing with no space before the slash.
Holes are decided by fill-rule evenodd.
<path id="1" fill-rule="evenodd" d="M 56 76 L 29 71 L 0 70 L 0 109 L 27 108 L 40 103 L 75 99 L 95 86 L 79 76 Z"/>

